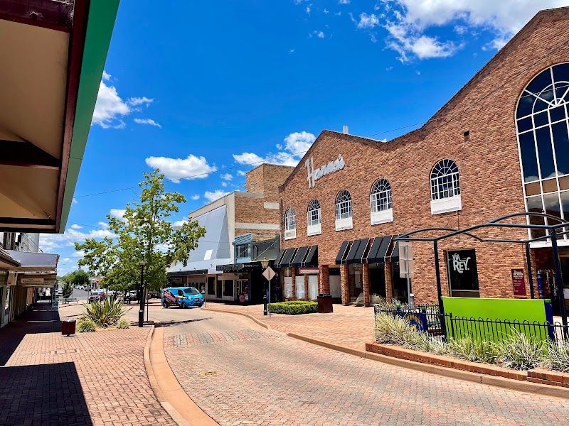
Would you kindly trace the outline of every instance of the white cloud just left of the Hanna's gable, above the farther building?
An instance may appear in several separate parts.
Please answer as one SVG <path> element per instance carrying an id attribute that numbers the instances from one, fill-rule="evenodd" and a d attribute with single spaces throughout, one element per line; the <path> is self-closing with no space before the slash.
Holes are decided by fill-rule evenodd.
<path id="1" fill-rule="evenodd" d="M 242 153 L 233 155 L 237 163 L 243 165 L 257 165 L 260 163 L 271 163 L 280 165 L 297 165 L 302 156 L 308 151 L 316 136 L 307 131 L 290 133 L 285 138 L 285 146 L 277 144 L 277 153 L 267 153 L 265 157 L 260 157 L 255 153 Z M 238 172 L 238 174 L 240 174 Z"/>

